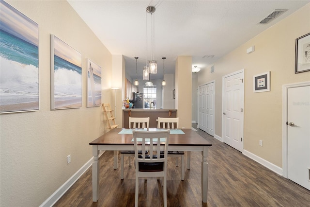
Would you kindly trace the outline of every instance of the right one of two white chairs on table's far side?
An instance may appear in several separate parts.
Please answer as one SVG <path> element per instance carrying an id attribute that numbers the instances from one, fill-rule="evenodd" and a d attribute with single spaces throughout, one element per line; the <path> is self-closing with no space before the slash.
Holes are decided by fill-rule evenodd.
<path id="1" fill-rule="evenodd" d="M 179 128 L 179 118 L 158 117 L 158 129 L 177 129 Z M 184 180 L 184 151 L 168 151 L 168 156 L 176 157 L 176 166 L 178 166 L 178 157 L 181 157 L 181 180 Z"/>

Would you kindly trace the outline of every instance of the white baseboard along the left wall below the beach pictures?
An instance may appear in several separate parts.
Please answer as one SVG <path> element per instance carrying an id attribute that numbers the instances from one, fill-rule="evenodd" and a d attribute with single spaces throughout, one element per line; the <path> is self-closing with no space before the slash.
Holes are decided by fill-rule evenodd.
<path id="1" fill-rule="evenodd" d="M 99 157 L 104 153 L 104 151 L 100 151 Z M 40 207 L 52 207 L 61 197 L 62 195 L 71 188 L 71 186 L 77 182 L 78 178 L 82 176 L 83 173 L 87 171 L 93 164 L 93 157 L 87 161 L 74 175 L 72 175 L 62 186 L 57 189 L 45 202 L 43 202 Z"/>

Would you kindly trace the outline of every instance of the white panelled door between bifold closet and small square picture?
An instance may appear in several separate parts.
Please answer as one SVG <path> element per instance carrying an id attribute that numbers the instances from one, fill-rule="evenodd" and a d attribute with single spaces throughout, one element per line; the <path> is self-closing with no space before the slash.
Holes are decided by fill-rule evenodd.
<path id="1" fill-rule="evenodd" d="M 223 77 L 223 141 L 243 151 L 244 71 Z"/>

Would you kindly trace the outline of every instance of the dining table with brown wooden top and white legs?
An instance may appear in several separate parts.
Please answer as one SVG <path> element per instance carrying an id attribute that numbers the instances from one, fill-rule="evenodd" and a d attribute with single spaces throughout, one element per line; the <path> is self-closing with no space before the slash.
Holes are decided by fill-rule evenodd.
<path id="1" fill-rule="evenodd" d="M 114 151 L 114 169 L 117 168 L 118 151 L 134 150 L 133 142 L 133 129 L 114 128 L 109 132 L 96 138 L 89 144 L 93 147 L 93 202 L 98 201 L 99 195 L 99 153 L 100 151 Z M 136 129 L 157 131 L 163 129 L 149 128 L 149 129 Z M 169 138 L 169 151 L 187 151 L 187 169 L 189 169 L 190 151 L 202 152 L 202 202 L 207 203 L 208 196 L 208 149 L 212 144 L 206 139 L 202 138 L 195 130 L 192 129 L 171 129 Z"/>

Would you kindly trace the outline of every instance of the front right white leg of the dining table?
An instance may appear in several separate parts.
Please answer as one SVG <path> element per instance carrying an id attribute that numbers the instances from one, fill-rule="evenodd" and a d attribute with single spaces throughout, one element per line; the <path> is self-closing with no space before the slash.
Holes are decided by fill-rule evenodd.
<path id="1" fill-rule="evenodd" d="M 202 202 L 207 203 L 208 198 L 208 162 L 207 162 L 207 156 L 208 156 L 208 147 L 203 146 L 202 151 Z"/>

